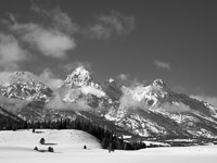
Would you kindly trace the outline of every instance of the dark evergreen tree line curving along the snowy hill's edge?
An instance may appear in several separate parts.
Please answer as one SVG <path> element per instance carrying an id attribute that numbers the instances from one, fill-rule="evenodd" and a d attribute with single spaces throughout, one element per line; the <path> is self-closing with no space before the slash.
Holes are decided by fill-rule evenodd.
<path id="1" fill-rule="evenodd" d="M 0 130 L 16 130 L 16 129 L 79 129 L 89 133 L 101 141 L 103 149 L 108 150 L 138 150 L 145 148 L 145 143 L 141 141 L 128 142 L 125 141 L 123 136 L 117 135 L 106 126 L 101 126 L 91 123 L 90 121 L 76 118 L 58 120 L 58 121 L 43 121 L 43 122 L 26 122 L 22 118 L 13 120 L 9 116 L 1 115 Z"/>

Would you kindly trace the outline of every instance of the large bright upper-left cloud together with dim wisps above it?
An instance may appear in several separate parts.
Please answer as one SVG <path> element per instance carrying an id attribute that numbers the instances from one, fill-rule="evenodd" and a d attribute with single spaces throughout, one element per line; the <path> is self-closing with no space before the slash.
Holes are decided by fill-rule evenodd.
<path id="1" fill-rule="evenodd" d="M 31 7 L 36 15 L 31 22 L 21 23 L 10 13 L 8 22 L 11 32 L 20 36 L 20 41 L 25 42 L 27 49 L 37 50 L 46 57 L 64 59 L 69 50 L 76 48 L 74 34 L 78 26 L 67 13 L 61 9 L 46 10 L 37 5 Z"/>

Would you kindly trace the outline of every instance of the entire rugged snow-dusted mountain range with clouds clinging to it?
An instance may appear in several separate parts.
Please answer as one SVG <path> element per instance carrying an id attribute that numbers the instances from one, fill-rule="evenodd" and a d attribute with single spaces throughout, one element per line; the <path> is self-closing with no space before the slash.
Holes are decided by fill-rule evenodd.
<path id="1" fill-rule="evenodd" d="M 174 92 L 162 79 L 133 87 L 98 84 L 78 66 L 55 89 L 29 72 L 10 74 L 0 86 L 3 110 L 26 121 L 81 117 L 141 137 L 217 138 L 217 108 Z"/>

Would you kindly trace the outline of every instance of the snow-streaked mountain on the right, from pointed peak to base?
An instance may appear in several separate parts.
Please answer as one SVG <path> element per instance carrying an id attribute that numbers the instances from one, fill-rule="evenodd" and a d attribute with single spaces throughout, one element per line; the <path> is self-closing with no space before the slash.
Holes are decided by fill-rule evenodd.
<path id="1" fill-rule="evenodd" d="M 123 87 L 119 108 L 105 117 L 144 137 L 217 138 L 217 108 L 171 91 L 162 79 Z"/>

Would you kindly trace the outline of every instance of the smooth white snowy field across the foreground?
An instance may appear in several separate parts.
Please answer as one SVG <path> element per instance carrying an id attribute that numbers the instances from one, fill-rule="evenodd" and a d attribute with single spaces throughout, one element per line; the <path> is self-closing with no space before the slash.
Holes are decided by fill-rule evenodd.
<path id="1" fill-rule="evenodd" d="M 108 153 L 91 135 L 80 130 L 0 131 L 0 163 L 216 163 L 217 146 L 164 147 Z M 40 138 L 47 145 L 40 145 Z M 84 146 L 87 150 L 84 150 Z M 51 146 L 54 153 L 38 152 Z"/>

